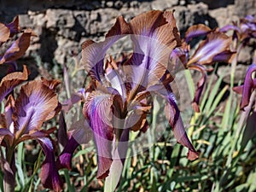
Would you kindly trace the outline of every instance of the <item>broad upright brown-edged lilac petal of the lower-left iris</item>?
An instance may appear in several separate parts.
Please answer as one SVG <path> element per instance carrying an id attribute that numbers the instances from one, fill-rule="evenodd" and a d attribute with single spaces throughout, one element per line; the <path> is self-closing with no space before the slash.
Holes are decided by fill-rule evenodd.
<path id="1" fill-rule="evenodd" d="M 58 100 L 55 92 L 41 81 L 34 80 L 21 87 L 20 97 L 15 102 L 16 137 L 36 128 L 40 128 L 48 118 L 49 113 L 55 111 Z"/>

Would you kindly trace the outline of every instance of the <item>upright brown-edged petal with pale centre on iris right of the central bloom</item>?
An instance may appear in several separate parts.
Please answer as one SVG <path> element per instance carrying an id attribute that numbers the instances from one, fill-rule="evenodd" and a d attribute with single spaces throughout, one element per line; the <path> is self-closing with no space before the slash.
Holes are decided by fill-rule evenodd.
<path id="1" fill-rule="evenodd" d="M 207 35 L 207 39 L 203 41 L 195 54 L 192 55 L 188 62 L 188 66 L 192 63 L 210 64 L 214 56 L 230 49 L 232 39 L 222 32 L 212 32 Z"/>

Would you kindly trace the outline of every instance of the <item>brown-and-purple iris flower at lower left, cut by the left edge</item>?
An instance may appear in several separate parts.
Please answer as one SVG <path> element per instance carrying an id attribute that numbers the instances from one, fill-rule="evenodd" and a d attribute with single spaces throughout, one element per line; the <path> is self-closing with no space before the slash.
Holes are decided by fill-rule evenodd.
<path id="1" fill-rule="evenodd" d="M 1 102 L 15 86 L 27 79 L 28 71 L 9 73 L 0 84 Z M 0 118 L 0 142 L 6 148 L 1 155 L 6 191 L 15 189 L 15 148 L 28 139 L 37 140 L 44 150 L 45 160 L 41 168 L 41 182 L 45 188 L 61 190 L 61 178 L 55 166 L 54 146 L 49 134 L 55 129 L 43 130 L 44 121 L 52 119 L 60 110 L 55 94 L 57 80 L 33 80 L 21 86 L 20 95 L 9 95 Z"/>

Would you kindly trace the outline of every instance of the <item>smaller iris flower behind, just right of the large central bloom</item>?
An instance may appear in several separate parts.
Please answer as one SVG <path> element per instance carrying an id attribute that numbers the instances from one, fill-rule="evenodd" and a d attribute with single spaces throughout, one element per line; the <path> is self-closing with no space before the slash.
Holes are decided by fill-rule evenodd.
<path id="1" fill-rule="evenodd" d="M 204 37 L 194 53 L 190 50 L 190 42 L 193 38 Z M 197 90 L 192 103 L 195 112 L 200 112 L 199 101 L 200 96 L 207 79 L 207 66 L 216 62 L 230 63 L 236 51 L 232 50 L 232 38 L 219 32 L 218 29 L 211 30 L 203 24 L 190 26 L 185 33 L 185 38 L 181 47 L 174 49 L 172 60 L 174 62 L 182 62 L 183 67 L 192 69 L 201 73 L 201 79 L 197 83 Z M 191 53 L 192 52 L 192 53 Z"/>

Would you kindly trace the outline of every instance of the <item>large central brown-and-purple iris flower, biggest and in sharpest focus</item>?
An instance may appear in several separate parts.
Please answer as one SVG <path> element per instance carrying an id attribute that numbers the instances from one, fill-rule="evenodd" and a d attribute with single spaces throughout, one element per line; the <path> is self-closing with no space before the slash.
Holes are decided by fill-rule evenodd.
<path id="1" fill-rule="evenodd" d="M 105 61 L 108 49 L 120 38 L 129 36 L 133 54 L 120 63 L 112 56 Z M 93 131 L 97 155 L 97 178 L 108 177 L 116 143 L 128 140 L 129 131 L 145 131 L 153 94 L 166 101 L 166 118 L 177 142 L 189 148 L 188 159 L 198 153 L 190 143 L 170 83 L 173 80 L 170 55 L 181 46 L 176 21 L 170 11 L 153 10 L 137 15 L 130 22 L 119 16 L 105 37 L 82 45 L 82 64 L 90 76 L 84 94 L 84 117 Z M 124 148 L 119 148 L 122 153 Z M 125 158 L 124 155 L 120 158 Z"/>

